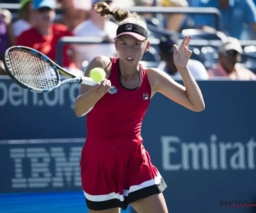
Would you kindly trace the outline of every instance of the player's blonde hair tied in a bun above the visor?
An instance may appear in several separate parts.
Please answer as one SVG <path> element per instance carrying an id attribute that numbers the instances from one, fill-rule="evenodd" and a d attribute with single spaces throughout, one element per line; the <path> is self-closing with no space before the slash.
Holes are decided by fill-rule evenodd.
<path id="1" fill-rule="evenodd" d="M 115 8 L 113 11 L 109 9 L 108 3 L 99 2 L 95 4 L 95 11 L 101 16 L 106 16 L 108 14 L 113 16 L 115 22 L 121 26 L 126 23 L 137 24 L 143 26 L 144 29 L 148 29 L 146 21 L 137 13 L 131 13 L 128 9 Z"/>

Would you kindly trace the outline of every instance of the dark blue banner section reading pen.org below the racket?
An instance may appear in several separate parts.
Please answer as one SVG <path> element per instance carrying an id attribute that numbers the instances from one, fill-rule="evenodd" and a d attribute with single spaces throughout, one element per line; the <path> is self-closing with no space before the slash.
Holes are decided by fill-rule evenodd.
<path id="1" fill-rule="evenodd" d="M 77 118 L 73 102 L 79 83 L 63 84 L 50 93 L 32 93 L 9 78 L 0 79 L 0 140 L 85 138 L 84 118 Z"/>

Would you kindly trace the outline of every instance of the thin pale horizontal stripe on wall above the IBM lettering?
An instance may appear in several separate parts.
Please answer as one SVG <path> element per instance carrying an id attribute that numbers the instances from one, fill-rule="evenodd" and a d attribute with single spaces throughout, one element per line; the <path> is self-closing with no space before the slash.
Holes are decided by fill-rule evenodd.
<path id="1" fill-rule="evenodd" d="M 0 140 L 0 145 L 16 144 L 47 144 L 47 143 L 84 143 L 85 138 L 55 138 L 55 139 L 24 139 L 24 140 Z"/>

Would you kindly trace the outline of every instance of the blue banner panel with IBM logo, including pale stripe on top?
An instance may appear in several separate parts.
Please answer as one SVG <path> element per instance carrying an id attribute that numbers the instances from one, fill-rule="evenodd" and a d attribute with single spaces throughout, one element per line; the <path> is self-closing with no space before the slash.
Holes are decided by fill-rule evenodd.
<path id="1" fill-rule="evenodd" d="M 80 154 L 84 139 L 2 142 L 1 193 L 81 190 Z"/>

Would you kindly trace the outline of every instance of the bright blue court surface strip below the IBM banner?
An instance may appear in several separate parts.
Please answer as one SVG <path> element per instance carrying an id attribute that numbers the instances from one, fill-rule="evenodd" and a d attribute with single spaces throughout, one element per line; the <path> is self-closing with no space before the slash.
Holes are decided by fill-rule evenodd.
<path id="1" fill-rule="evenodd" d="M 0 194 L 0 213 L 87 213 L 83 192 Z M 122 210 L 130 213 L 130 209 Z"/>

